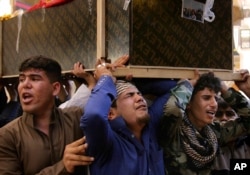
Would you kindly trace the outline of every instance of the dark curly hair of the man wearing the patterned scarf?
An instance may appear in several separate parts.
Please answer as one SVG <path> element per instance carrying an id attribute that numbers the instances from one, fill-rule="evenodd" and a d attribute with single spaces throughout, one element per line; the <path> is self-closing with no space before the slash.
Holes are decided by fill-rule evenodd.
<path id="1" fill-rule="evenodd" d="M 212 72 L 202 74 L 197 80 L 197 83 L 194 85 L 191 100 L 197 94 L 197 92 L 204 90 L 205 88 L 218 93 L 221 90 L 221 80 L 218 77 L 215 77 L 214 73 Z"/>

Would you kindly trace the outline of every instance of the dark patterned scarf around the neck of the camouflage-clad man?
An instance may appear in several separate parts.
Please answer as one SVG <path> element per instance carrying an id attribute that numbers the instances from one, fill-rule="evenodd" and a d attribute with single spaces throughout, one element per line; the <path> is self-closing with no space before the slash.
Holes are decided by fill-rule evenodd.
<path id="1" fill-rule="evenodd" d="M 205 126 L 202 133 L 198 132 L 187 116 L 181 125 L 182 144 L 188 156 L 191 168 L 202 169 L 212 163 L 216 156 L 218 141 L 209 126 Z"/>

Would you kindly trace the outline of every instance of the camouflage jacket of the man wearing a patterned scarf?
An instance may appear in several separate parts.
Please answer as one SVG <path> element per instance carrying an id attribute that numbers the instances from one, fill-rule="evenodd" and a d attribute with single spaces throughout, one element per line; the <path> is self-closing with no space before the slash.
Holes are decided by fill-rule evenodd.
<path id="1" fill-rule="evenodd" d="M 164 107 L 161 122 L 160 144 L 164 149 L 165 167 L 169 175 L 206 175 L 210 174 L 211 166 L 203 169 L 189 167 L 187 154 L 181 144 L 181 124 L 186 115 L 185 109 L 193 91 L 189 81 L 180 81 L 171 90 L 171 96 Z M 246 134 L 250 128 L 250 104 L 240 93 L 230 88 L 223 96 L 240 116 L 240 119 L 228 122 L 225 126 L 219 123 L 209 125 L 215 132 L 219 146 Z"/>

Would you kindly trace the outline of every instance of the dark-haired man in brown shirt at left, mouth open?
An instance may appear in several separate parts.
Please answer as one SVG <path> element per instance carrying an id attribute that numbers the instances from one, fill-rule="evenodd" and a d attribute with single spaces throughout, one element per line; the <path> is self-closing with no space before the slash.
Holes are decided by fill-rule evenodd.
<path id="1" fill-rule="evenodd" d="M 0 128 L 1 175 L 87 174 L 94 159 L 79 127 L 83 109 L 59 109 L 61 67 L 51 58 L 35 56 L 19 68 L 18 93 L 23 115 Z"/>

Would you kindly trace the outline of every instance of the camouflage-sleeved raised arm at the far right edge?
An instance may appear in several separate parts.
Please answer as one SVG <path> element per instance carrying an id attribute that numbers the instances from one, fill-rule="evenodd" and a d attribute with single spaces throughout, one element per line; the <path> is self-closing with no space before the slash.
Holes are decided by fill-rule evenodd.
<path id="1" fill-rule="evenodd" d="M 248 74 L 248 72 L 245 73 Z M 248 90 L 248 76 L 245 73 L 242 74 L 243 81 L 236 81 L 235 84 L 239 85 L 239 89 Z M 250 101 L 235 88 L 228 87 L 225 82 L 222 82 L 221 87 L 221 96 L 239 116 L 239 118 L 229 120 L 223 125 L 216 124 L 216 122 L 213 125 L 217 135 L 219 135 L 219 143 L 224 145 L 236 140 L 239 136 L 246 135 L 250 131 Z"/>

